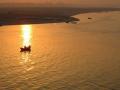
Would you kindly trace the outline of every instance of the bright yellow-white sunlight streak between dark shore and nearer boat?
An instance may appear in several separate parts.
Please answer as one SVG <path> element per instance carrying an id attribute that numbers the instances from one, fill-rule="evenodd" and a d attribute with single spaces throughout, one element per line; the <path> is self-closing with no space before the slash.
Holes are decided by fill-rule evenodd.
<path id="1" fill-rule="evenodd" d="M 22 25 L 21 30 L 22 30 L 23 46 L 31 45 L 32 26 L 31 25 Z"/>

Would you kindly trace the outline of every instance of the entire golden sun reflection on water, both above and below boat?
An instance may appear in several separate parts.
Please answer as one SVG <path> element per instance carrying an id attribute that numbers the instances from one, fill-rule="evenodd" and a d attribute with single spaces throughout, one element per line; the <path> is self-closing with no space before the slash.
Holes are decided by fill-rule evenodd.
<path id="1" fill-rule="evenodd" d="M 21 25 L 21 36 L 22 36 L 22 47 L 31 45 L 32 39 L 32 25 Z M 31 60 L 31 53 L 30 52 L 23 52 L 21 54 L 21 61 L 20 64 L 24 68 L 24 72 L 32 70 L 33 61 Z"/>

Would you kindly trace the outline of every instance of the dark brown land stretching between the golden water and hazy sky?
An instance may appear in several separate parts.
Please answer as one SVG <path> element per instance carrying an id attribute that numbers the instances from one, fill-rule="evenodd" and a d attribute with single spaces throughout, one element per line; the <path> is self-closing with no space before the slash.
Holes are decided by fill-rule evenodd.
<path id="1" fill-rule="evenodd" d="M 120 8 L 73 7 L 0 7 L 0 26 L 17 24 L 43 24 L 74 22 L 80 13 L 120 11 Z"/>

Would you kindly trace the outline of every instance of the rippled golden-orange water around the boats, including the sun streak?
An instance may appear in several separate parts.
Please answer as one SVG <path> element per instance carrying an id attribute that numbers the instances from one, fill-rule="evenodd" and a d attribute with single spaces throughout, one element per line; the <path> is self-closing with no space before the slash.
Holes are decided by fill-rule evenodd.
<path id="1" fill-rule="evenodd" d="M 120 90 L 119 16 L 0 27 L 0 90 Z M 24 45 L 32 51 L 20 53 Z"/>

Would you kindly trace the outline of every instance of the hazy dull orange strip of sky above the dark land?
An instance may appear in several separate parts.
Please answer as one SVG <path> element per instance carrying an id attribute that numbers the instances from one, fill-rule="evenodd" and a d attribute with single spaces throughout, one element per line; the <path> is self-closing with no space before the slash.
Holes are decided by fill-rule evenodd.
<path id="1" fill-rule="evenodd" d="M 0 0 L 0 3 L 40 3 L 82 7 L 120 7 L 120 0 Z"/>

